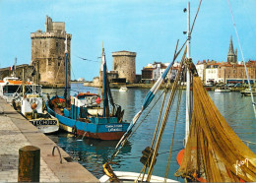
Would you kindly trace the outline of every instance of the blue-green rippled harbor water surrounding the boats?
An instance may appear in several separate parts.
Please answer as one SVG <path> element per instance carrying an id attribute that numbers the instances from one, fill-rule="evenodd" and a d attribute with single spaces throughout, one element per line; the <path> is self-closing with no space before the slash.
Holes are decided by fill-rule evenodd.
<path id="1" fill-rule="evenodd" d="M 76 91 L 98 92 L 98 89 L 84 87 L 82 84 L 72 84 L 71 89 L 71 94 L 75 94 Z M 124 120 L 130 122 L 134 115 L 141 109 L 144 97 L 149 90 L 129 89 L 126 92 L 119 92 L 118 90 L 111 91 L 114 102 L 121 105 L 125 110 Z M 44 92 L 51 94 L 57 92 L 58 94 L 63 95 L 63 90 L 44 90 Z M 119 152 L 118 155 L 113 159 L 113 161 L 116 162 L 116 164 L 112 164 L 112 168 L 115 171 L 141 172 L 143 164 L 140 162 L 140 157 L 142 156 L 142 151 L 146 147 L 151 146 L 156 123 L 159 118 L 162 100 L 161 97 L 158 103 L 156 103 L 156 101 L 162 92 L 163 91 L 159 91 L 152 104 L 139 119 L 138 124 L 140 124 L 140 127 L 135 131 L 121 152 Z M 255 143 L 256 120 L 251 105 L 251 98 L 242 97 L 239 92 L 217 93 L 214 91 L 209 91 L 209 94 L 223 114 L 226 122 L 233 129 L 236 135 L 241 140 Z M 160 151 L 153 172 L 154 175 L 164 177 L 165 174 L 166 162 L 175 121 L 176 105 L 175 100 L 161 140 Z M 175 180 L 177 178 L 174 177 L 173 174 L 178 169 L 176 155 L 183 148 L 184 132 L 185 91 L 182 91 L 176 133 L 172 147 L 172 157 L 168 173 L 168 178 Z M 103 175 L 102 164 L 108 160 L 117 144 L 117 141 L 83 139 L 83 137 L 74 137 L 72 134 L 67 134 L 65 132 L 50 135 L 49 138 L 52 139 L 65 152 L 68 152 L 75 161 L 78 161 L 85 166 L 97 178 Z M 250 144 L 248 146 L 254 153 L 256 152 L 256 145 Z M 178 180 L 182 181 L 181 179 Z"/>

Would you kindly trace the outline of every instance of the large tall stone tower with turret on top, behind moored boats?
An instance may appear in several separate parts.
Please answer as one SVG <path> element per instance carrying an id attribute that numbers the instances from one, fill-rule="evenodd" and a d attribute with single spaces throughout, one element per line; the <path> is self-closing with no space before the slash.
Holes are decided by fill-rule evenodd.
<path id="1" fill-rule="evenodd" d="M 35 82 L 44 87 L 62 88 L 65 86 L 65 39 L 69 57 L 67 59 L 67 79 L 70 86 L 70 43 L 71 34 L 65 31 L 65 23 L 52 22 L 46 16 L 45 32 L 31 33 L 32 65 L 37 71 Z"/>

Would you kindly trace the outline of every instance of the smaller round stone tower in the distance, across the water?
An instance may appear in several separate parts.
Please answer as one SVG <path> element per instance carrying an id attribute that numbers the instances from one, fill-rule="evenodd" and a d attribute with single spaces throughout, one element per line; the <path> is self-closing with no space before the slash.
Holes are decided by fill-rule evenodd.
<path id="1" fill-rule="evenodd" d="M 118 72 L 118 78 L 126 78 L 126 82 L 135 83 L 136 52 L 130 52 L 130 51 L 112 52 L 112 57 L 113 57 L 113 71 Z"/>

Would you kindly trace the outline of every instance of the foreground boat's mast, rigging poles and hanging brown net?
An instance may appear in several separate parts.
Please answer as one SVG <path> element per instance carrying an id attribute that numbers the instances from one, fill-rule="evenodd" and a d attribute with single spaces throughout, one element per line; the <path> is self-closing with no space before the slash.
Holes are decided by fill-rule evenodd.
<path id="1" fill-rule="evenodd" d="M 201 1 L 199 4 L 199 8 L 200 5 Z M 189 15 L 190 3 L 188 3 L 187 11 Z M 146 149 L 142 152 L 143 155 L 140 161 L 143 163 L 143 168 L 141 172 L 137 174 L 137 177 L 134 179 L 134 181 L 152 181 L 153 169 L 155 164 L 157 163 L 157 156 L 159 155 L 162 134 L 168 122 L 167 119 L 169 117 L 170 109 L 174 105 L 175 101 L 176 115 L 170 120 L 174 123 L 174 129 L 173 134 L 170 137 L 171 144 L 169 148 L 168 159 L 166 160 L 166 169 L 164 176 L 164 181 L 167 180 L 171 161 L 173 141 L 175 136 L 175 129 L 177 124 L 177 117 L 181 103 L 180 101 L 182 92 L 177 89 L 182 82 L 181 80 L 184 78 L 182 76 L 184 76 L 184 73 L 186 73 L 186 125 L 184 139 L 185 148 L 177 155 L 177 161 L 180 167 L 174 175 L 176 177 L 184 178 L 185 181 L 193 182 L 255 182 L 256 155 L 245 144 L 243 144 L 243 142 L 228 126 L 221 112 L 212 101 L 210 95 L 204 89 L 203 83 L 200 77 L 198 77 L 196 68 L 192 63 L 192 59 L 190 57 L 190 38 L 192 30 L 190 30 L 190 26 L 188 26 L 188 36 L 185 42 L 187 43 L 187 46 L 180 61 L 180 68 L 177 71 L 174 82 L 171 88 L 168 88 L 167 85 L 166 89 L 162 91 L 163 96 L 160 115 L 158 121 L 156 121 L 156 130 L 153 136 L 152 144 L 146 147 Z M 169 72 L 169 69 L 175 61 L 175 58 L 177 57 L 179 52 L 180 51 L 176 53 L 175 51 L 172 63 L 166 68 L 166 70 L 161 75 L 160 79 L 157 81 L 151 91 L 148 92 L 145 97 L 142 109 L 133 118 L 132 123 L 127 130 L 127 133 L 118 142 L 111 157 L 108 159 L 107 162 L 103 164 L 103 171 L 109 177 L 107 179 L 108 181 L 118 181 L 118 172 L 113 171 L 110 164 L 116 163 L 114 162 L 114 157 L 118 154 L 118 152 L 120 152 L 124 144 L 132 136 L 132 134 L 134 134 L 134 131 L 138 130 L 138 128 L 133 129 L 133 127 L 136 125 L 143 111 L 150 105 L 151 101 L 156 96 L 156 93 L 160 89 L 162 81 Z M 185 58 L 186 54 L 187 58 Z M 192 82 L 190 81 L 190 78 L 192 78 Z M 193 104 L 190 102 L 191 84 L 193 84 Z M 169 91 L 168 99 L 165 98 L 166 91 Z M 174 100 L 175 96 L 177 98 L 176 100 Z M 191 110 L 193 111 L 192 114 Z M 141 123 L 142 122 L 143 121 L 141 121 Z M 137 124 L 137 126 L 139 127 L 140 124 Z M 136 173 L 133 173 L 133 175 L 135 174 Z M 147 178 L 144 179 L 145 177 Z"/>

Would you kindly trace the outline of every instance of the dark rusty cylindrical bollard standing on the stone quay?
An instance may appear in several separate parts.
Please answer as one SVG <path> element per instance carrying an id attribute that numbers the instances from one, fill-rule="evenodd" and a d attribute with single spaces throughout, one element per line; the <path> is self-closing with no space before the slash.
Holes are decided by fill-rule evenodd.
<path id="1" fill-rule="evenodd" d="M 40 149 L 27 146 L 19 150 L 18 182 L 39 182 Z"/>

